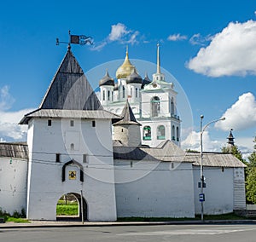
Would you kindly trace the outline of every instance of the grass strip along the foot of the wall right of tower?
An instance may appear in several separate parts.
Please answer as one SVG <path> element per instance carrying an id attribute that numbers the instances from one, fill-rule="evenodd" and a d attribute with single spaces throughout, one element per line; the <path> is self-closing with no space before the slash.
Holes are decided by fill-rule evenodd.
<path id="1" fill-rule="evenodd" d="M 243 216 L 237 216 L 235 213 L 223 215 L 205 215 L 204 220 L 241 220 L 246 219 Z M 119 222 L 164 222 L 164 221 L 198 221 L 201 220 L 201 215 L 196 215 L 195 218 L 188 217 L 119 217 Z"/>

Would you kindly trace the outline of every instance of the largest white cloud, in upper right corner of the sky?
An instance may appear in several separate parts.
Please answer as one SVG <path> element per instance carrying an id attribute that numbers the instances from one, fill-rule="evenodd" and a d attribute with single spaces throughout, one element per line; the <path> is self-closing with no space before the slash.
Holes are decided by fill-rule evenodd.
<path id="1" fill-rule="evenodd" d="M 256 74 L 256 21 L 231 22 L 187 66 L 209 77 Z"/>

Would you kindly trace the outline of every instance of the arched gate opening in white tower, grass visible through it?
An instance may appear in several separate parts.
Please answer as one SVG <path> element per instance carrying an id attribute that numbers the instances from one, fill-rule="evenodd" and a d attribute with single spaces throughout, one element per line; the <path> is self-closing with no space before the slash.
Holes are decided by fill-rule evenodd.
<path id="1" fill-rule="evenodd" d="M 81 205 L 81 194 L 66 193 L 61 196 L 56 205 L 57 221 L 84 221 L 88 218 L 88 210 L 86 200 L 83 198 L 83 212 Z"/>

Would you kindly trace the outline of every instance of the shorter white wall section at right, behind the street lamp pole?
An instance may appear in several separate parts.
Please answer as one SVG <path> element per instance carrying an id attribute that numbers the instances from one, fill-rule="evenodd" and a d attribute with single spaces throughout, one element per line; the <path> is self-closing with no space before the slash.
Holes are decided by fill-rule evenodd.
<path id="1" fill-rule="evenodd" d="M 194 189 L 195 189 L 195 214 L 201 214 L 201 202 L 199 194 L 201 188 L 200 167 L 194 167 Z M 204 188 L 205 202 L 204 213 L 209 215 L 218 215 L 230 213 L 234 209 L 233 205 L 233 168 L 204 167 L 203 170 L 207 187 Z"/>

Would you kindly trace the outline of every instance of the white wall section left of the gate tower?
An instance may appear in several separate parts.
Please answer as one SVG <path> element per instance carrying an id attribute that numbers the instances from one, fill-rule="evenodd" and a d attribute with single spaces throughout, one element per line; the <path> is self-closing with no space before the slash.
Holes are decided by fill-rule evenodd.
<path id="1" fill-rule="evenodd" d="M 13 214 L 26 210 L 27 160 L 0 158 L 0 209 Z"/>

